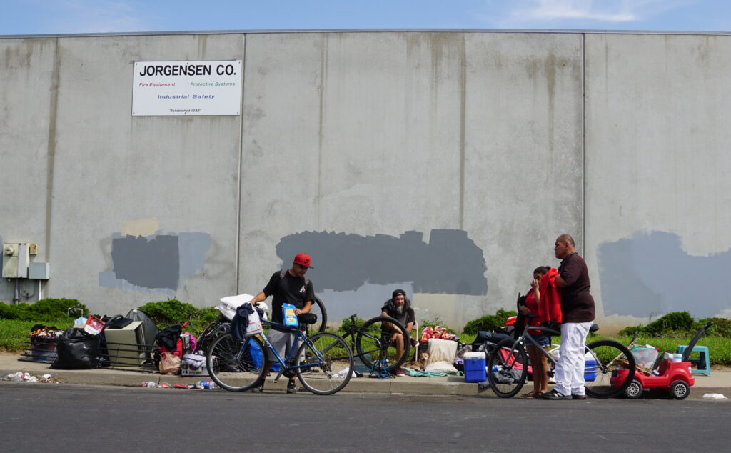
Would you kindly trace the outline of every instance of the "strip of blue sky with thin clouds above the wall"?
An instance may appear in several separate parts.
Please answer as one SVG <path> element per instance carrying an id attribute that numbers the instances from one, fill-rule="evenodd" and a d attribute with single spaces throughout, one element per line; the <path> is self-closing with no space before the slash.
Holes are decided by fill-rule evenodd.
<path id="1" fill-rule="evenodd" d="M 269 29 L 731 31 L 728 0 L 0 0 L 0 35 Z"/>

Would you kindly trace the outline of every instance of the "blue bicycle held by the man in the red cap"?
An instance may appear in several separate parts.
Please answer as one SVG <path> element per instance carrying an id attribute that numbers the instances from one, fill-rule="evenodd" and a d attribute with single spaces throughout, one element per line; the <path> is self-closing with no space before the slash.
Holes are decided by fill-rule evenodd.
<path id="1" fill-rule="evenodd" d="M 299 315 L 298 319 L 300 325 L 317 322 L 317 318 L 310 313 Z M 281 375 L 287 378 L 296 375 L 306 389 L 322 395 L 334 394 L 347 385 L 352 375 L 353 354 L 342 337 L 331 332 L 310 336 L 299 326 L 285 326 L 273 321 L 262 320 L 262 324 L 295 333 L 297 341 L 293 342 L 287 357 L 282 358 L 263 332 L 243 341 L 234 340 L 230 332 L 219 335 L 206 351 L 205 362 L 208 373 L 221 389 L 246 392 L 257 388 L 269 370 L 268 351 L 281 365 L 274 382 Z M 336 351 L 338 359 L 333 358 Z"/>

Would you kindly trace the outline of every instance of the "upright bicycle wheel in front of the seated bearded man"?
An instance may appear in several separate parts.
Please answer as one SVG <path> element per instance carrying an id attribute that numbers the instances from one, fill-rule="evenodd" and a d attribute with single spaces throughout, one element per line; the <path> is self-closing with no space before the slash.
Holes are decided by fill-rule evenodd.
<path id="1" fill-rule="evenodd" d="M 398 354 L 396 343 L 401 334 L 404 350 Z M 376 360 L 387 360 L 388 370 L 395 370 L 406 361 L 409 356 L 409 334 L 406 327 L 388 316 L 376 316 L 371 318 L 363 326 L 360 326 L 355 336 L 355 351 L 366 367 L 372 368 Z"/>

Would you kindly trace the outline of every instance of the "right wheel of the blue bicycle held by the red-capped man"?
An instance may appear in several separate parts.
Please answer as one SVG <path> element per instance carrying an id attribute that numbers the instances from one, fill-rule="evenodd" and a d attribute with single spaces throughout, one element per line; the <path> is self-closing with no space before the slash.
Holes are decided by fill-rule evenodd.
<path id="1" fill-rule="evenodd" d="M 297 364 L 311 364 L 311 367 L 297 368 L 297 377 L 302 385 L 314 394 L 339 392 L 350 381 L 353 373 L 353 353 L 342 337 L 320 332 L 310 337 L 312 345 L 303 342 L 298 350 Z M 334 360 L 346 351 L 345 359 Z"/>

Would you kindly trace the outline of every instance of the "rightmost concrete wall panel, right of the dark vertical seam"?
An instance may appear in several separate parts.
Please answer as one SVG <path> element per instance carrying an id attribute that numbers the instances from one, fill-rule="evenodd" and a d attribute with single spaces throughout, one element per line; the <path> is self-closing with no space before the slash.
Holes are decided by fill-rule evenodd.
<path id="1" fill-rule="evenodd" d="M 731 37 L 586 36 L 586 251 L 605 315 L 730 315 Z"/>

